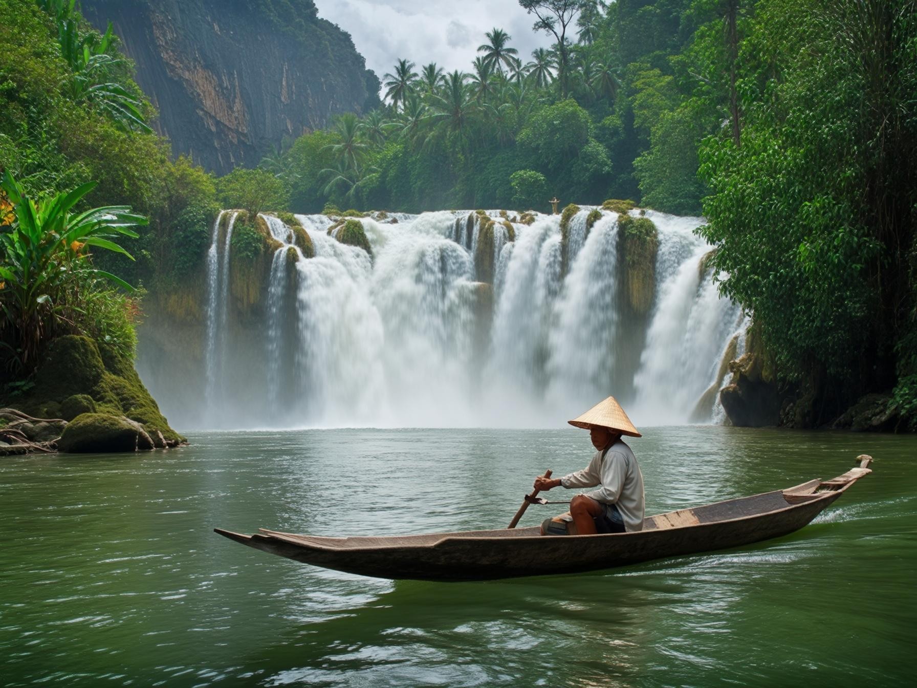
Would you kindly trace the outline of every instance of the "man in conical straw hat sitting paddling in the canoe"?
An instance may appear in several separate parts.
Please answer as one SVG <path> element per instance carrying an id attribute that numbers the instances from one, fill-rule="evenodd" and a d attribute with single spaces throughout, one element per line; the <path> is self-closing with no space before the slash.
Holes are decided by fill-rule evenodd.
<path id="1" fill-rule="evenodd" d="M 567 489 L 598 486 L 570 501 L 570 516 L 579 535 L 595 535 L 599 532 L 597 524 L 602 532 L 609 533 L 642 530 L 643 473 L 634 452 L 621 440 L 622 435 L 642 436 L 624 409 L 609 396 L 569 424 L 590 431 L 592 446 L 597 449 L 595 456 L 582 471 L 563 478 L 538 476 L 535 489 L 546 491 L 561 485 Z"/>

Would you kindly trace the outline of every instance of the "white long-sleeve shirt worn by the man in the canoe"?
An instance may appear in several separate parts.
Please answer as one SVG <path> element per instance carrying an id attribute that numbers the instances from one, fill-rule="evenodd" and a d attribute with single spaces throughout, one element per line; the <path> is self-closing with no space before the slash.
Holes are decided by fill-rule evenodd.
<path id="1" fill-rule="evenodd" d="M 627 532 L 643 530 L 643 473 L 634 452 L 622 440 L 605 452 L 604 461 L 602 452 L 596 451 L 586 468 L 565 475 L 560 484 L 567 489 L 599 485 L 599 489 L 583 494 L 602 504 L 617 505 Z"/>

